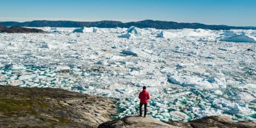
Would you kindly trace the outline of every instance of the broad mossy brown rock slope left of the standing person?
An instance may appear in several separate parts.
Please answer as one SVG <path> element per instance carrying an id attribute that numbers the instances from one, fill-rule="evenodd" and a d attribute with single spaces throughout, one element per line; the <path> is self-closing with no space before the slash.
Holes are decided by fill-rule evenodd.
<path id="1" fill-rule="evenodd" d="M 95 128 L 111 120 L 114 102 L 58 88 L 0 85 L 0 128 Z"/>

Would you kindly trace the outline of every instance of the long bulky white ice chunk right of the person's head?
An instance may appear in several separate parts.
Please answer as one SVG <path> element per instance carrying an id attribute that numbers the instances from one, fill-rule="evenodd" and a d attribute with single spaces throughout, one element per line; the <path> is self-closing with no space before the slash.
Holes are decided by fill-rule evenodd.
<path id="1" fill-rule="evenodd" d="M 177 85 L 193 88 L 226 88 L 225 78 L 199 78 L 196 76 L 170 76 L 169 80 Z"/>

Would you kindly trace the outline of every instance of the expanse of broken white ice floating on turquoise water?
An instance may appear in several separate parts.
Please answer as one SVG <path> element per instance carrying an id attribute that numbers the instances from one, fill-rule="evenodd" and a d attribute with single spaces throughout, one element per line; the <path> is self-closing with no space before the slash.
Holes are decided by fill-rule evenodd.
<path id="1" fill-rule="evenodd" d="M 0 85 L 50 87 L 117 99 L 115 118 L 256 121 L 256 31 L 51 28 L 0 34 Z"/>

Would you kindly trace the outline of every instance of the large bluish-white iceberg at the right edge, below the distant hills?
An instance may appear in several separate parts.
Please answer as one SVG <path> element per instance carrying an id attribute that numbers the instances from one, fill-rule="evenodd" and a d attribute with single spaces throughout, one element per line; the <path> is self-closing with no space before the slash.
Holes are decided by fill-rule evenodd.
<path id="1" fill-rule="evenodd" d="M 240 34 L 223 38 L 220 41 L 256 43 L 256 37 L 249 36 L 247 34 Z"/>

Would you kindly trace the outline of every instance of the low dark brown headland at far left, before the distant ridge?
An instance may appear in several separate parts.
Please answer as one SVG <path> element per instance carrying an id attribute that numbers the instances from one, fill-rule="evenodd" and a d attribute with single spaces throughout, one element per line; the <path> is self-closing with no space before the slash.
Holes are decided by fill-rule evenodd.
<path id="1" fill-rule="evenodd" d="M 5 27 L 0 25 L 0 32 L 6 33 L 47 33 L 41 29 L 29 29 L 25 27 Z"/>

